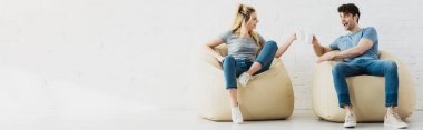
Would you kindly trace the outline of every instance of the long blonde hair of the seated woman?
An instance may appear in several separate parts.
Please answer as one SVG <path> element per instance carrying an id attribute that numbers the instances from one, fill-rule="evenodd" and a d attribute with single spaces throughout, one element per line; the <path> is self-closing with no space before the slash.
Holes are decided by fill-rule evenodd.
<path id="1" fill-rule="evenodd" d="M 242 27 L 246 26 L 246 23 L 249 22 L 253 12 L 256 12 L 256 10 L 253 7 L 238 4 L 235 11 L 235 19 L 232 26 L 232 31 L 233 32 L 239 31 L 240 33 L 239 36 L 244 36 L 248 33 L 247 32 L 248 30 L 245 30 L 245 28 L 242 28 Z M 254 41 L 256 41 L 256 44 L 258 46 L 258 48 L 262 48 L 257 32 L 252 30 L 249 34 L 253 37 Z"/>

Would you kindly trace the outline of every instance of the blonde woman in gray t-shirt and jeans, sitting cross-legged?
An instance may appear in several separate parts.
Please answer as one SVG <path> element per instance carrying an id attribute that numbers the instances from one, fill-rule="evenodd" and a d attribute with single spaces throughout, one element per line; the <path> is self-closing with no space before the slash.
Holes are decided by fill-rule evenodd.
<path id="1" fill-rule="evenodd" d="M 239 84 L 245 87 L 253 79 L 252 76 L 268 70 L 274 57 L 279 58 L 296 39 L 293 34 L 278 48 L 275 41 L 266 42 L 260 34 L 254 31 L 257 22 L 257 13 L 253 7 L 238 4 L 232 29 L 205 46 L 206 51 L 223 64 L 234 123 L 243 123 L 243 116 L 237 101 L 236 78 L 239 77 Z M 222 43 L 228 46 L 226 57 L 213 50 Z"/>

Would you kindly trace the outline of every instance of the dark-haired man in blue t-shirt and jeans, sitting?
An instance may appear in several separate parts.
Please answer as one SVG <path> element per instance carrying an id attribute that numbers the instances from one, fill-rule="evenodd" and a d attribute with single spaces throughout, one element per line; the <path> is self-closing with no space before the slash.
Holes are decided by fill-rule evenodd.
<path id="1" fill-rule="evenodd" d="M 350 102 L 348 87 L 345 78 L 360 74 L 385 77 L 385 107 L 386 116 L 384 124 L 394 128 L 406 128 L 400 116 L 394 111 L 397 107 L 399 76 L 396 63 L 378 59 L 378 39 L 373 27 L 358 27 L 360 11 L 353 3 L 338 7 L 341 23 L 350 33 L 341 36 L 328 47 L 318 43 L 313 38 L 313 49 L 317 63 L 329 60 L 343 59 L 343 62 L 334 66 L 332 73 L 338 98 L 338 104 L 346 110 L 345 128 L 356 126 L 353 106 Z M 331 52 L 340 50 L 340 52 Z"/>

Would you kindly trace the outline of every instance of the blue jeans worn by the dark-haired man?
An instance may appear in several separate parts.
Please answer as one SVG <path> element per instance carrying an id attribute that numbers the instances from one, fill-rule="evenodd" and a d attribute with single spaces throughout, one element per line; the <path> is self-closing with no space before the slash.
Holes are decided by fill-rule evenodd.
<path id="1" fill-rule="evenodd" d="M 388 60 L 357 59 L 340 62 L 333 69 L 333 80 L 341 108 L 351 106 L 346 77 L 368 74 L 385 77 L 385 107 L 396 107 L 399 98 L 399 73 L 396 63 Z"/>

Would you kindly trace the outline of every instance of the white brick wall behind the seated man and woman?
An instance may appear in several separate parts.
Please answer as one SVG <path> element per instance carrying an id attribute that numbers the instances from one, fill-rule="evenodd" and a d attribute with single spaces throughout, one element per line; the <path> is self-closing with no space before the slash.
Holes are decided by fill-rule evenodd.
<path id="1" fill-rule="evenodd" d="M 345 33 L 336 8 L 356 2 L 361 26 L 407 64 L 423 109 L 421 0 L 0 0 L 0 108 L 189 109 L 196 49 L 229 28 L 238 2 L 256 8 L 257 31 L 279 44 L 297 27 L 327 44 Z M 311 109 L 311 46 L 282 59 L 295 108 Z"/>

